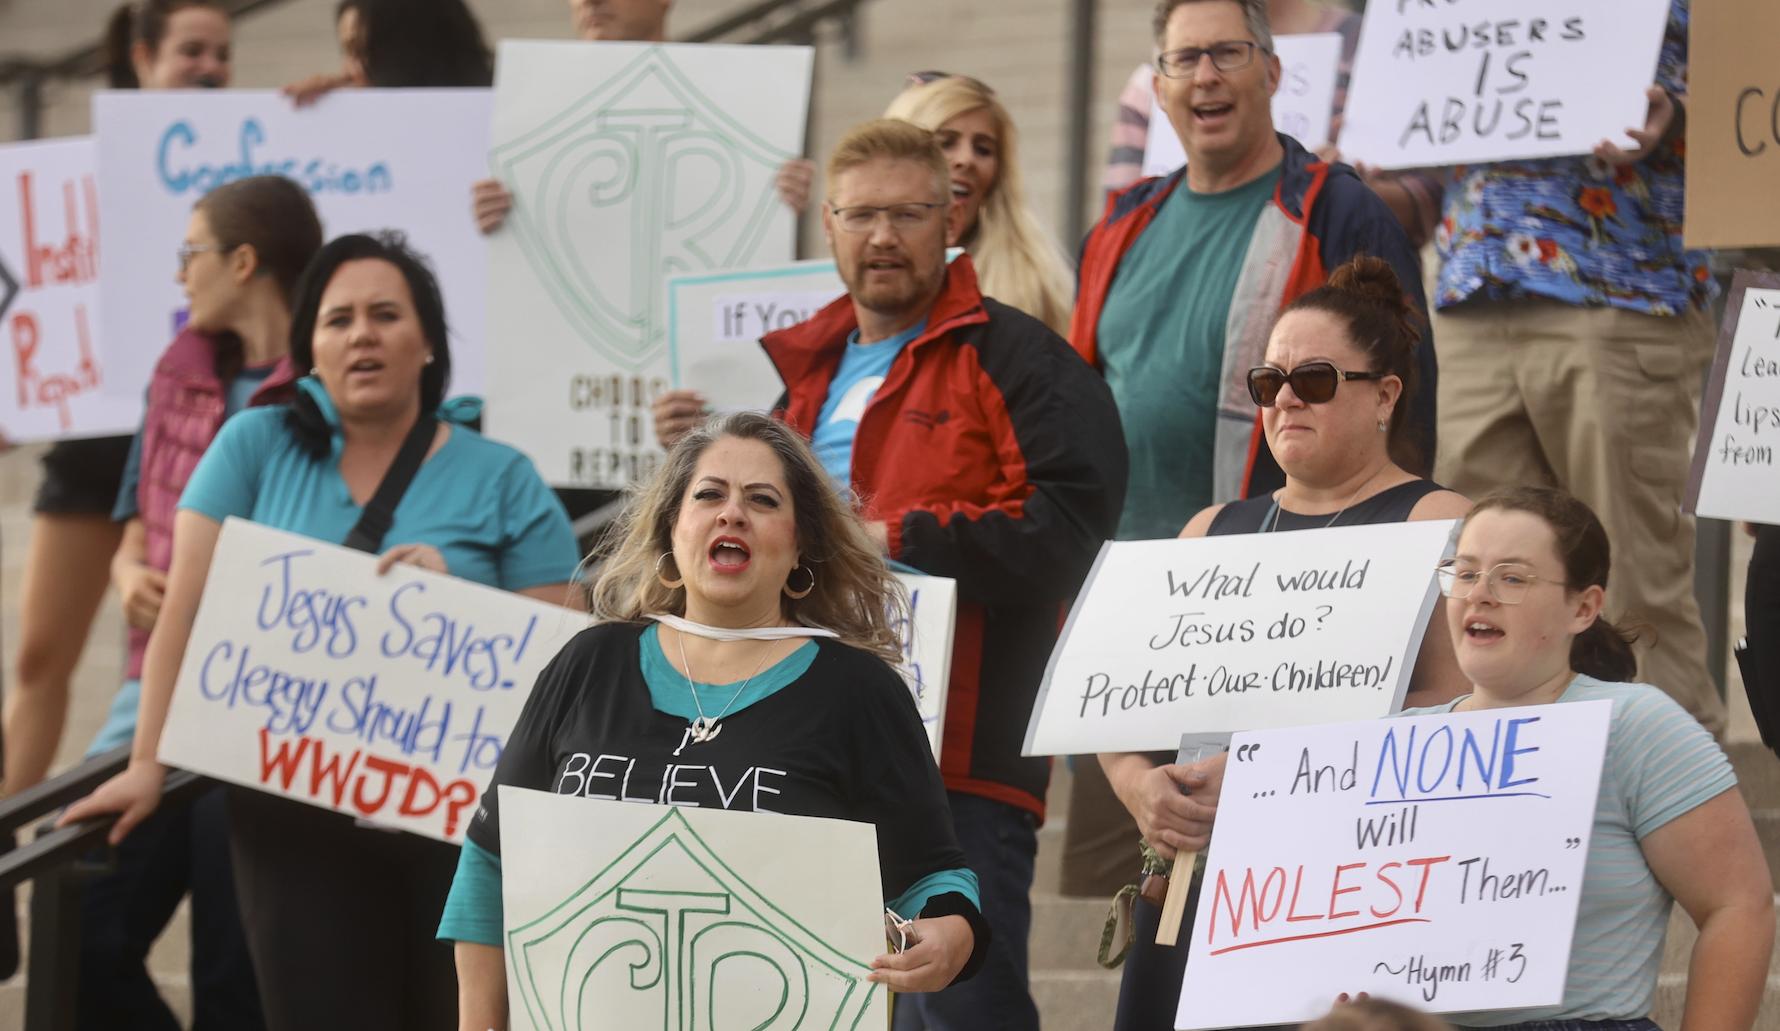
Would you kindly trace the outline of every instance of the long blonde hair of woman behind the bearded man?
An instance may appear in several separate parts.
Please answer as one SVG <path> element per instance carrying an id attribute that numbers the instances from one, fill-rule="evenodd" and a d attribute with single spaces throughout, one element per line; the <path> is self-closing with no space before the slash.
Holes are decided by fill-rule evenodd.
<path id="1" fill-rule="evenodd" d="M 929 132 L 977 109 L 995 119 L 1000 173 L 977 210 L 977 224 L 959 240 L 977 265 L 983 292 L 1038 317 L 1057 333 L 1070 331 L 1073 278 L 1057 242 L 1032 215 L 1020 178 L 1020 141 L 1007 109 L 986 85 L 963 75 L 934 78 L 897 94 L 885 118 L 901 118 Z"/>

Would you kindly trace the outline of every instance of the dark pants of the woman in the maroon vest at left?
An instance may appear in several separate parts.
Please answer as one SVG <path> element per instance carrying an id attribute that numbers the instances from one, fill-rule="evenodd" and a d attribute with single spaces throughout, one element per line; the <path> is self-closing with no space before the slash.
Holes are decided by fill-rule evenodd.
<path id="1" fill-rule="evenodd" d="M 162 810 L 117 846 L 80 897 L 82 1031 L 178 1031 L 144 960 L 192 894 L 192 1031 L 258 1031 L 260 997 L 230 874 L 224 789 Z"/>

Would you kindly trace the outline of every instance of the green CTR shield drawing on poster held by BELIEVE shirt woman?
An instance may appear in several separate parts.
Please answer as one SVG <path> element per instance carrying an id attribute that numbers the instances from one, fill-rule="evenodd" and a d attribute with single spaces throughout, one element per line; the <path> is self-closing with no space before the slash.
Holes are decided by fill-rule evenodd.
<path id="1" fill-rule="evenodd" d="M 509 810 L 513 801 L 520 805 Z M 523 908 L 520 901 L 522 912 L 507 917 L 516 1026 L 522 1015 L 530 1027 L 550 1031 L 803 1031 L 883 1024 L 883 994 L 865 979 L 865 956 L 837 947 L 797 917 L 803 912 L 821 919 L 824 910 L 831 915 L 828 903 L 833 899 L 824 903 L 819 885 L 813 894 L 767 897 L 730 862 L 758 865 L 767 851 L 780 856 L 776 862 L 801 862 L 787 858 L 781 848 L 785 840 L 797 840 L 799 853 L 829 865 L 833 856 L 810 848 L 801 830 L 785 835 L 780 823 L 794 817 L 765 817 L 773 826 L 760 828 L 764 839 L 778 844 L 762 840 L 756 848 L 753 832 L 744 830 L 737 846 L 726 833 L 739 826 L 737 817 L 749 821 L 755 814 L 660 810 L 502 789 L 502 837 L 513 826 L 511 817 L 527 821 L 534 828 L 529 832 L 534 856 L 545 837 L 557 842 L 555 860 L 571 865 L 580 865 L 577 860 L 586 853 L 562 848 L 568 842 L 557 828 L 539 832 L 543 810 L 538 807 L 554 814 L 543 823 L 557 826 L 618 830 L 603 819 L 612 812 L 655 823 L 634 839 L 609 837 L 612 848 L 619 848 L 618 840 L 630 844 L 578 887 L 564 892 L 559 876 L 554 878 L 559 881 L 555 896 L 541 896 L 539 885 L 520 889 L 538 903 Z M 571 812 L 575 817 L 566 819 Z M 728 828 L 707 826 L 707 833 L 700 833 L 694 823 L 710 817 L 728 821 Z M 732 855 L 719 855 L 710 837 L 726 839 L 724 851 Z M 511 883 L 506 894 L 513 906 L 518 899 L 513 899 Z M 546 901 L 550 897 L 555 901 Z M 867 1019 L 872 1013 L 876 1024 Z"/>

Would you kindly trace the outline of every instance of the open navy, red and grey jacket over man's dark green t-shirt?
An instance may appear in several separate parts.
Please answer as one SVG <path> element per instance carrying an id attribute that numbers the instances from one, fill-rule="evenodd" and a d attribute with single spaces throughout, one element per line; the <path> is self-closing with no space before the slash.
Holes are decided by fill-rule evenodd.
<path id="1" fill-rule="evenodd" d="M 1278 312 L 1321 287 L 1330 269 L 1356 255 L 1390 262 L 1408 292 L 1412 308 L 1419 313 L 1417 329 L 1422 335 L 1415 349 L 1419 383 L 1410 401 L 1417 454 L 1399 454 L 1397 459 L 1419 474 L 1428 474 L 1433 467 L 1438 367 L 1415 249 L 1385 201 L 1378 199 L 1349 166 L 1324 162 L 1283 134 L 1280 144 L 1285 148 L 1280 185 L 1273 203 L 1257 221 L 1234 294 L 1239 299 L 1260 297 L 1266 303 L 1234 308 L 1225 338 L 1225 374 L 1214 443 L 1214 468 L 1218 468 L 1214 500 L 1219 502 L 1255 497 L 1285 483 L 1260 431 L 1260 410 L 1248 397 L 1248 369 L 1260 363 Z M 1100 313 L 1107 294 L 1112 292 L 1120 262 L 1184 178 L 1185 169 L 1180 169 L 1168 176 L 1141 180 L 1112 194 L 1100 223 L 1082 242 L 1070 344 L 1095 367 L 1100 365 Z"/>

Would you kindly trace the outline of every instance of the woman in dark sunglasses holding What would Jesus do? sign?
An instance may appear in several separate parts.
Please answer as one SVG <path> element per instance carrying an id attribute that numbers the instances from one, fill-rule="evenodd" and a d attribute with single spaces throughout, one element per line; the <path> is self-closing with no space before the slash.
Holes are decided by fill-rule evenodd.
<path id="1" fill-rule="evenodd" d="M 1328 285 L 1289 304 L 1267 340 L 1266 361 L 1250 369 L 1248 390 L 1262 410 L 1262 429 L 1285 486 L 1271 495 L 1212 506 L 1180 531 L 1184 538 L 1283 532 L 1330 525 L 1445 520 L 1470 504 L 1440 484 L 1410 474 L 1408 427 L 1415 392 L 1419 335 L 1403 283 L 1383 258 L 1358 256 L 1330 274 Z M 1431 705 L 1465 691 L 1452 641 L 1428 634 L 1410 680 L 1410 702 Z M 1177 766 L 1171 753 L 1100 757 L 1112 792 L 1137 821 L 1143 840 L 1166 869 L 1177 849 L 1202 849 L 1210 837 L 1223 759 Z M 1152 881 L 1153 885 L 1155 881 Z M 1193 885 L 1198 894 L 1198 878 Z M 1155 894 L 1157 899 L 1150 901 Z M 1136 940 L 1120 985 L 1118 1031 L 1173 1027 L 1196 897 L 1189 897 L 1178 940 L 1155 944 L 1159 892 L 1134 901 Z"/>

